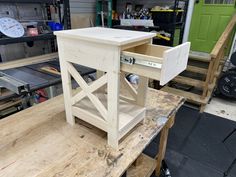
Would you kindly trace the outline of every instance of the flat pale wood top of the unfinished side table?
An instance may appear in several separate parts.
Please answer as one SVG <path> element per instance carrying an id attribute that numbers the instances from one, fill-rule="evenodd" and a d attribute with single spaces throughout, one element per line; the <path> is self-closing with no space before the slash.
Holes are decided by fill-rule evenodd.
<path id="1" fill-rule="evenodd" d="M 68 37 L 116 46 L 122 46 L 145 39 L 152 39 L 156 36 L 155 33 L 102 27 L 56 31 L 54 34 L 60 37 Z"/>

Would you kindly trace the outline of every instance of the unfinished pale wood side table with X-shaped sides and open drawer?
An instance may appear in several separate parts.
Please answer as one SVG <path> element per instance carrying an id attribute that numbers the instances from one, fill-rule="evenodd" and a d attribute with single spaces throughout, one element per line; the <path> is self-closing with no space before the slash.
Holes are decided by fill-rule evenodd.
<path id="1" fill-rule="evenodd" d="M 95 27 L 55 34 L 67 122 L 74 125 L 78 117 L 106 131 L 108 144 L 114 148 L 145 117 L 148 78 L 165 84 L 187 66 L 189 43 L 175 48 L 155 46 L 151 44 L 153 33 Z M 73 64 L 104 75 L 87 84 Z M 122 71 L 140 75 L 137 90 Z M 81 88 L 76 94 L 72 93 L 72 77 Z M 128 97 L 120 94 L 120 84 Z M 106 91 L 101 89 L 105 86 Z"/>

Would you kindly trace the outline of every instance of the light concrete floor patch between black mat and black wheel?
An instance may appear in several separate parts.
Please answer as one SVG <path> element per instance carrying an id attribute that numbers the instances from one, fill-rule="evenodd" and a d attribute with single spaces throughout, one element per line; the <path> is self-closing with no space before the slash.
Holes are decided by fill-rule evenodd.
<path id="1" fill-rule="evenodd" d="M 236 121 L 236 100 L 214 97 L 204 112 Z"/>

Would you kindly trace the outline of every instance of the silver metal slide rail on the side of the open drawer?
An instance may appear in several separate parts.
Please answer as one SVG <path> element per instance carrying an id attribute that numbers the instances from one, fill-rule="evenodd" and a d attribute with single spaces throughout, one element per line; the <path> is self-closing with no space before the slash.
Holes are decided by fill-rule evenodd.
<path id="1" fill-rule="evenodd" d="M 142 65 L 142 66 L 147 66 L 147 67 L 157 68 L 157 69 L 160 69 L 162 66 L 160 63 L 147 61 L 147 60 L 141 60 L 134 57 L 125 56 L 125 55 L 121 55 L 120 62 L 123 64 L 128 64 L 128 65 L 137 64 L 137 65 Z"/>

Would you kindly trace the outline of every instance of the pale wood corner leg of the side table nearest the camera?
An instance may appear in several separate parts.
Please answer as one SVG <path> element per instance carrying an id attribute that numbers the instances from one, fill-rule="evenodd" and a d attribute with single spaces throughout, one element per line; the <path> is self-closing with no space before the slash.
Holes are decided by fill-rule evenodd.
<path id="1" fill-rule="evenodd" d="M 107 72 L 107 133 L 108 144 L 117 149 L 119 143 L 120 50 L 117 50 L 114 56 L 110 71 Z"/>

